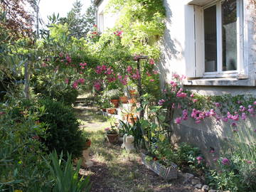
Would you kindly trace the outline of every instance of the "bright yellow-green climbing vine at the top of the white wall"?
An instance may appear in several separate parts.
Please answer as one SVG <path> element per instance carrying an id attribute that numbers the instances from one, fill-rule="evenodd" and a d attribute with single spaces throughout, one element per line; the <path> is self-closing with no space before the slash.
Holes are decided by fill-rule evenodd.
<path id="1" fill-rule="evenodd" d="M 107 9 L 119 15 L 115 30 L 122 31 L 123 46 L 132 54 L 159 58 L 165 28 L 162 0 L 110 0 Z"/>

